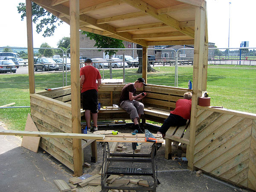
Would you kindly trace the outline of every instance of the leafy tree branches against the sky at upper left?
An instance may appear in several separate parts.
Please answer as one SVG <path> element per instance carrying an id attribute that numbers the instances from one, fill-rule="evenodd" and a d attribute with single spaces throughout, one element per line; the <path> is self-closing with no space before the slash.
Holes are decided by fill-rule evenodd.
<path id="1" fill-rule="evenodd" d="M 26 17 L 26 5 L 25 3 L 19 3 L 17 6 L 18 13 L 21 13 L 21 20 Z M 61 25 L 63 23 L 58 17 L 52 15 L 50 12 L 47 12 L 44 8 L 32 2 L 32 21 L 36 24 L 36 32 L 39 34 L 43 29 L 44 37 L 50 37 L 54 34 L 56 25 Z M 38 23 L 39 21 L 39 23 Z"/>

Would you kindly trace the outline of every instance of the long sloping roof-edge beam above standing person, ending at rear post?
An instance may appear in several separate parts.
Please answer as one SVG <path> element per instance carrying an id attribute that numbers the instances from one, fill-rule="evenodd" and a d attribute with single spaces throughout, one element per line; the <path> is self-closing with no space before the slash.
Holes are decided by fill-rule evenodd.
<path id="1" fill-rule="evenodd" d="M 111 25 L 108 25 L 108 24 L 97 24 L 96 23 L 96 19 L 88 16 L 88 15 L 80 15 L 80 20 L 90 24 L 90 25 L 93 25 L 93 26 L 96 26 L 104 31 L 108 31 L 108 32 L 111 32 L 117 36 L 120 36 L 122 38 L 125 39 L 125 41 L 130 41 L 130 42 L 134 42 L 136 44 L 140 44 L 142 46 L 145 46 L 147 47 L 147 42 L 144 41 L 144 40 L 134 40 L 132 39 L 132 35 L 127 33 L 127 32 L 120 32 L 120 33 L 117 33 L 116 32 L 116 28 L 111 26 Z"/>

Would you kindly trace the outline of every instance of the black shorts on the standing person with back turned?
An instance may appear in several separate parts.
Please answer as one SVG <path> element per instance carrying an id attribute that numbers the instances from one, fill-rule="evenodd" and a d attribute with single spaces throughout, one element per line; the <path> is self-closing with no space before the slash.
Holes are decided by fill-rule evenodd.
<path id="1" fill-rule="evenodd" d="M 92 113 L 98 113 L 98 91 L 90 89 L 82 93 L 83 110 L 90 110 Z"/>

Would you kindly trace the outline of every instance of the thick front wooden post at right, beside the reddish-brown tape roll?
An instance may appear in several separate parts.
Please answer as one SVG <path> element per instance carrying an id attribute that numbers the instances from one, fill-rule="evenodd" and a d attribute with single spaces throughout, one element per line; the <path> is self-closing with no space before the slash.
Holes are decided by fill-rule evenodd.
<path id="1" fill-rule="evenodd" d="M 194 170 L 194 150 L 195 150 L 195 126 L 198 105 L 198 97 L 202 95 L 203 67 L 204 67 L 204 38 L 205 38 L 205 21 L 206 21 L 206 3 L 204 6 L 195 9 L 195 49 L 194 49 L 194 66 L 193 66 L 193 96 L 191 108 L 189 150 L 187 151 L 188 169 Z"/>

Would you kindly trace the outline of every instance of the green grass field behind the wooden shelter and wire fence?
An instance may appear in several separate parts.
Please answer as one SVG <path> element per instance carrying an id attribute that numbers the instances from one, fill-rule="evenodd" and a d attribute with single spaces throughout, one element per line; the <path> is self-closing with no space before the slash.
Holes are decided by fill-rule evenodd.
<path id="1" fill-rule="evenodd" d="M 175 67 L 154 67 L 156 73 L 148 73 L 149 84 L 174 86 Z M 100 70 L 103 78 L 103 70 Z M 125 82 L 134 82 L 141 74 L 137 68 L 125 69 Z M 122 69 L 113 69 L 113 79 L 123 79 Z M 178 87 L 188 87 L 192 81 L 193 66 L 179 66 Z M 62 87 L 62 72 L 35 73 L 36 91 L 44 88 Z M 109 70 L 104 70 L 104 79 L 109 79 Z M 67 74 L 70 85 L 70 72 Z M 207 75 L 207 92 L 211 105 L 237 111 L 256 113 L 256 66 L 209 65 Z M 0 75 L 0 106 L 12 102 L 14 106 L 29 106 L 29 78 L 27 74 Z M 10 129 L 23 130 L 30 108 L 0 109 L 0 121 Z"/>

